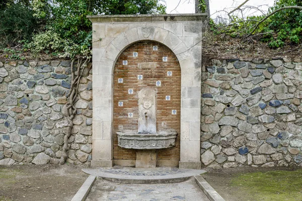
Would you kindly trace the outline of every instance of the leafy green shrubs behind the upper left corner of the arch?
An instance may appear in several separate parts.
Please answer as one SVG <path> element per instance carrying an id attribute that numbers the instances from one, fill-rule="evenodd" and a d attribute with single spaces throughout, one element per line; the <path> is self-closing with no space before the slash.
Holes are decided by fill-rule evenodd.
<path id="1" fill-rule="evenodd" d="M 27 47 L 34 53 L 72 57 L 90 51 L 92 24 L 88 15 L 163 14 L 160 0 L 33 0 L 34 16 L 45 19 L 46 30 L 36 34 Z M 50 8 L 51 7 L 51 8 Z"/>

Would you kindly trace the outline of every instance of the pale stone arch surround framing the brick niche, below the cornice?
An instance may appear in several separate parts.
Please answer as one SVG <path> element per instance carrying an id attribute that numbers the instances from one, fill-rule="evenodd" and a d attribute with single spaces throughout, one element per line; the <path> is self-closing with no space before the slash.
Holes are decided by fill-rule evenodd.
<path id="1" fill-rule="evenodd" d="M 113 21 L 93 24 L 97 35 L 106 42 L 93 47 L 93 153 L 92 166 L 113 165 L 113 71 L 120 54 L 130 45 L 150 40 L 167 46 L 177 57 L 181 68 L 181 168 L 201 167 L 200 162 L 200 97 L 201 97 L 201 33 L 198 19 L 185 21 L 142 22 Z M 111 17 L 109 17 L 111 18 Z M 188 20 L 192 19 L 192 21 Z M 112 18 L 112 20 L 117 20 Z M 127 19 L 128 20 L 128 19 Z M 193 23 L 192 22 L 196 22 Z M 134 28 L 131 28 L 136 26 Z M 108 29 L 107 29 L 108 27 Z M 194 28 L 193 28 L 194 27 Z M 108 31 L 109 30 L 109 31 Z M 112 35 L 110 35 L 112 33 Z M 118 33 L 118 34 L 117 34 Z M 109 42 L 110 41 L 110 42 Z M 199 42 L 198 42 L 199 41 Z"/>

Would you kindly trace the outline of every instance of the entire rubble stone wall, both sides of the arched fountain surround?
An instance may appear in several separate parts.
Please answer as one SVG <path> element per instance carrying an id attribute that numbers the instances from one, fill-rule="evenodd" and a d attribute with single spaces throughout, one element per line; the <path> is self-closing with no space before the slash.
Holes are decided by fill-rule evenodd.
<path id="1" fill-rule="evenodd" d="M 58 164 L 70 61 L 0 62 L 0 165 Z M 203 166 L 302 165 L 302 60 L 212 60 L 203 66 Z M 92 156 L 92 71 L 84 71 L 67 162 Z"/>

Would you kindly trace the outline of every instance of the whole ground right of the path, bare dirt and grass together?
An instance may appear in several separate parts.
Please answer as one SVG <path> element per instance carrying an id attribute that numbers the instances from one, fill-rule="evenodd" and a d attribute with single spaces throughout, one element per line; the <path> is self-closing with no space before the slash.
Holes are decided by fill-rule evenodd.
<path id="1" fill-rule="evenodd" d="M 201 176 L 226 201 L 302 201 L 301 167 L 223 168 Z"/>

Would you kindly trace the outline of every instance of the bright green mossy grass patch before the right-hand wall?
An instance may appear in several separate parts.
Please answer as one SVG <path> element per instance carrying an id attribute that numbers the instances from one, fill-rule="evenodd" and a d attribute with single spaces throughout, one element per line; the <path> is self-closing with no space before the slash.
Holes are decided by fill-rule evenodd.
<path id="1" fill-rule="evenodd" d="M 231 184 L 252 195 L 251 200 L 302 200 L 302 170 L 242 173 Z"/>

